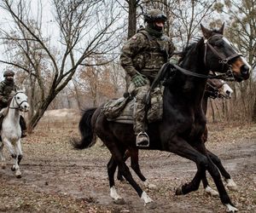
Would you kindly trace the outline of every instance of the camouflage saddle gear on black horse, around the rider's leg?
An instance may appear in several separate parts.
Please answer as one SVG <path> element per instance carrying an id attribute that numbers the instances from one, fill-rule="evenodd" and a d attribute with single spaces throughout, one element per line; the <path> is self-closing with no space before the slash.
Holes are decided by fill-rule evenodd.
<path id="1" fill-rule="evenodd" d="M 163 116 L 163 90 L 164 87 L 156 87 L 150 92 L 148 103 L 147 120 L 148 124 L 162 119 Z M 122 124 L 133 124 L 136 104 L 135 98 L 131 95 L 119 99 L 109 100 L 103 107 L 102 112 L 108 121 Z"/>

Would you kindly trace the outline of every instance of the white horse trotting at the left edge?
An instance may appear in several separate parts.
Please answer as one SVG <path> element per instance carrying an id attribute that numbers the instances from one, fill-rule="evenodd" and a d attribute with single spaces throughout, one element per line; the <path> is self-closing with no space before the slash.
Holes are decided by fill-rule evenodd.
<path id="1" fill-rule="evenodd" d="M 20 129 L 20 112 L 28 112 L 29 104 L 27 102 L 27 96 L 24 90 L 19 90 L 15 92 L 11 101 L 9 102 L 9 107 L 3 108 L 0 112 L 3 118 L 1 137 L 0 141 L 0 160 L 2 160 L 2 168 L 6 167 L 5 158 L 3 157 L 3 146 L 9 148 L 9 153 L 11 157 L 15 159 L 15 164 L 12 166 L 12 170 L 16 171 L 15 176 L 20 178 L 20 160 L 22 158 L 21 151 L 21 129 Z"/>

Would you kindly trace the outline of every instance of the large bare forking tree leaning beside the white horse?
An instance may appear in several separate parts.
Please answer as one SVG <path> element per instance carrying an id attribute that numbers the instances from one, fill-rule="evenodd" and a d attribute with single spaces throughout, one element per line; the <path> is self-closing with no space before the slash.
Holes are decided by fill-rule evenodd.
<path id="1" fill-rule="evenodd" d="M 52 0 L 55 9 L 53 23 L 60 32 L 60 43 L 55 41 L 54 44 L 58 45 L 52 46 L 50 37 L 44 37 L 44 26 L 40 21 L 44 10 L 38 4 L 38 18 L 32 19 L 31 3 L 22 0 L 3 0 L 0 3 L 13 21 L 9 29 L 1 30 L 2 44 L 8 44 L 6 49 L 10 56 L 0 62 L 26 72 L 27 81 L 38 87 L 38 94 L 32 95 L 37 97 L 37 103 L 33 104 L 29 130 L 38 124 L 51 101 L 66 87 L 78 67 L 92 66 L 84 63 L 86 59 L 105 55 L 104 63 L 113 60 L 108 53 L 119 45 L 116 33 L 122 27 L 118 24 L 119 11 L 113 0 Z"/>

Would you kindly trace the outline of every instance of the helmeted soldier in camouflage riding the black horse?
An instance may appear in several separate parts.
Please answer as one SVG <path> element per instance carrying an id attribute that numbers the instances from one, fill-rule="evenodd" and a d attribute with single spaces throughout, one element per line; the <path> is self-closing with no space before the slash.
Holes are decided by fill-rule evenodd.
<path id="1" fill-rule="evenodd" d="M 134 131 L 137 146 L 148 147 L 146 133 L 145 96 L 160 67 L 167 62 L 174 51 L 172 39 L 164 35 L 166 14 L 159 9 L 149 10 L 144 15 L 145 28 L 140 28 L 124 45 L 120 62 L 131 77 L 128 91 L 135 94 Z"/>

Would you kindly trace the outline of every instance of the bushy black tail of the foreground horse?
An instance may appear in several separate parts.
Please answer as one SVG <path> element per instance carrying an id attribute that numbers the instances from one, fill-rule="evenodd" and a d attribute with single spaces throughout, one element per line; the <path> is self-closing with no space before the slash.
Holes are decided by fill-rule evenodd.
<path id="1" fill-rule="evenodd" d="M 97 108 L 90 108 L 83 112 L 79 122 L 79 131 L 82 139 L 80 141 L 73 139 L 72 145 L 76 149 L 84 149 L 93 146 L 96 143 L 96 135 L 94 134 L 91 118 Z"/>

